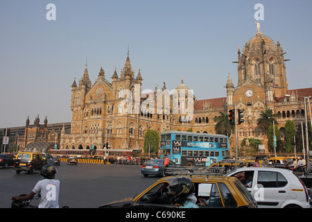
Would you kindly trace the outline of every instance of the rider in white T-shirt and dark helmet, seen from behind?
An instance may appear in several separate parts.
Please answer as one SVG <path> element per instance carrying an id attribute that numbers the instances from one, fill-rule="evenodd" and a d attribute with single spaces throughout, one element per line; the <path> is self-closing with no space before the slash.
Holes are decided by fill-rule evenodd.
<path id="1" fill-rule="evenodd" d="M 58 169 L 53 164 L 46 164 L 42 167 L 40 175 L 44 180 L 37 182 L 31 193 L 26 196 L 13 196 L 15 200 L 29 200 L 35 194 L 41 195 L 41 200 L 38 208 L 58 208 L 58 196 L 60 194 L 60 180 L 55 180 L 55 173 Z"/>

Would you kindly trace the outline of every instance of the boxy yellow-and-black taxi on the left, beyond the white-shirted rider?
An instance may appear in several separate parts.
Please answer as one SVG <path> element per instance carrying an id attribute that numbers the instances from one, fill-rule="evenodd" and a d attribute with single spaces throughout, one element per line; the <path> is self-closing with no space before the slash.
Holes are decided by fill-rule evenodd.
<path id="1" fill-rule="evenodd" d="M 46 155 L 44 153 L 18 153 L 15 157 L 14 169 L 17 174 L 21 171 L 35 173 L 47 164 Z"/>

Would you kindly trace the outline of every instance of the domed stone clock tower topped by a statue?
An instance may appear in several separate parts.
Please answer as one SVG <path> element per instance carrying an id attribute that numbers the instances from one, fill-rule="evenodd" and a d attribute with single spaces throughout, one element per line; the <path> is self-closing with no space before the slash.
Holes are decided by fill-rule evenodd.
<path id="1" fill-rule="evenodd" d="M 287 94 L 286 67 L 284 54 L 279 40 L 277 44 L 260 31 L 248 41 L 244 48 L 239 48 L 237 63 L 238 84 L 234 87 L 228 78 L 227 109 L 244 110 L 244 122 L 238 125 L 239 140 L 245 137 L 264 139 L 263 129 L 257 126 L 261 111 L 274 110 L 275 101 Z"/>

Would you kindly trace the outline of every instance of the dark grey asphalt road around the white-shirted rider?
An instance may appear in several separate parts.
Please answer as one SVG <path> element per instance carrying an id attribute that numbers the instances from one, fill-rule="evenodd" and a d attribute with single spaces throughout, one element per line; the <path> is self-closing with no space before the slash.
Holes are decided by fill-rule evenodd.
<path id="1" fill-rule="evenodd" d="M 141 193 L 159 178 L 144 178 L 141 166 L 117 164 L 67 165 L 62 162 L 55 178 L 60 180 L 61 206 L 70 208 L 95 208 L 99 205 L 120 200 Z M 9 208 L 12 196 L 29 194 L 38 180 L 42 180 L 39 171 L 35 174 L 21 172 L 17 175 L 12 167 L 0 168 L 0 208 Z M 39 200 L 33 200 L 37 205 Z"/>

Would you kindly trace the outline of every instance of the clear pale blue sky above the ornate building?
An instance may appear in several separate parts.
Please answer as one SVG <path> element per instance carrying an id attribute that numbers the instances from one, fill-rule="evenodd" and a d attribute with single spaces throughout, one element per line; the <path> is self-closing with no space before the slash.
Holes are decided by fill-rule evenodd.
<path id="1" fill-rule="evenodd" d="M 46 19 L 54 3 L 56 21 Z M 40 115 L 71 121 L 71 84 L 88 60 L 92 84 L 101 67 L 110 82 L 130 47 L 142 89 L 184 84 L 197 99 L 226 96 L 237 84 L 238 46 L 257 32 L 254 5 L 264 6 L 261 32 L 286 51 L 288 89 L 311 87 L 312 1 L 1 0 L 0 128 Z"/>

